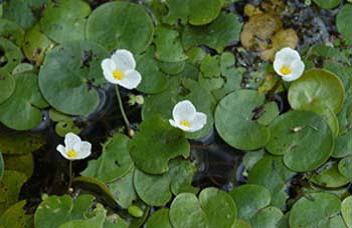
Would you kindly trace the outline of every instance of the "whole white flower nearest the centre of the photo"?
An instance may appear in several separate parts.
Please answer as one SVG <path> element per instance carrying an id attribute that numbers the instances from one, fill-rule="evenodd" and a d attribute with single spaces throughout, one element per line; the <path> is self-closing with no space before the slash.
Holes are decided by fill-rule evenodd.
<path id="1" fill-rule="evenodd" d="M 187 132 L 198 131 L 207 123 L 207 116 L 197 112 L 189 100 L 178 102 L 172 110 L 172 117 L 174 119 L 169 120 L 170 124 Z"/>

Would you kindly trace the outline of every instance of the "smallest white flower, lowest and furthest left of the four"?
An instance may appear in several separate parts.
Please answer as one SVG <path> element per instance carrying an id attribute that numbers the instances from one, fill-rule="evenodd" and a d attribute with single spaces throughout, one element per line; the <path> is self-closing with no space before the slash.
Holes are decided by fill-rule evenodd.
<path id="1" fill-rule="evenodd" d="M 82 141 L 81 138 L 73 133 L 65 135 L 65 146 L 58 145 L 56 150 L 68 160 L 85 159 L 91 154 L 92 145 Z"/>

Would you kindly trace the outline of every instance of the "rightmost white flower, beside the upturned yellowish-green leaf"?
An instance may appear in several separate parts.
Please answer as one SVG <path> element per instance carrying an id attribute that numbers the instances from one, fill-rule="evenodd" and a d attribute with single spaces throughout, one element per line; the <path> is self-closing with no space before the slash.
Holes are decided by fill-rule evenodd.
<path id="1" fill-rule="evenodd" d="M 276 52 L 274 70 L 284 81 L 294 81 L 302 76 L 304 63 L 299 53 L 286 47 Z"/>

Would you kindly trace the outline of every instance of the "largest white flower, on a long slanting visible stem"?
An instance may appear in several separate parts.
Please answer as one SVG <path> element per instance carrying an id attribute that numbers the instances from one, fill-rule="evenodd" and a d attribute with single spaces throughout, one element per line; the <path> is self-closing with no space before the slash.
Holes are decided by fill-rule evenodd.
<path id="1" fill-rule="evenodd" d="M 128 50 L 117 50 L 111 58 L 101 62 L 101 67 L 107 81 L 126 89 L 134 89 L 142 81 L 142 76 L 135 70 L 133 54 Z"/>

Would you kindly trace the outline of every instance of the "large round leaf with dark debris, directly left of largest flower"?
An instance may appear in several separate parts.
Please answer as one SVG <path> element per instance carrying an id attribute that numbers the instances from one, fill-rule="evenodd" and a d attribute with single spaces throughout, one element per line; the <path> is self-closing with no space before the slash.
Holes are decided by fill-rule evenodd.
<path id="1" fill-rule="evenodd" d="M 105 83 L 101 61 L 108 53 L 88 41 L 75 41 L 53 49 L 39 73 L 39 87 L 55 109 L 87 116 L 99 105 L 95 87 Z"/>

